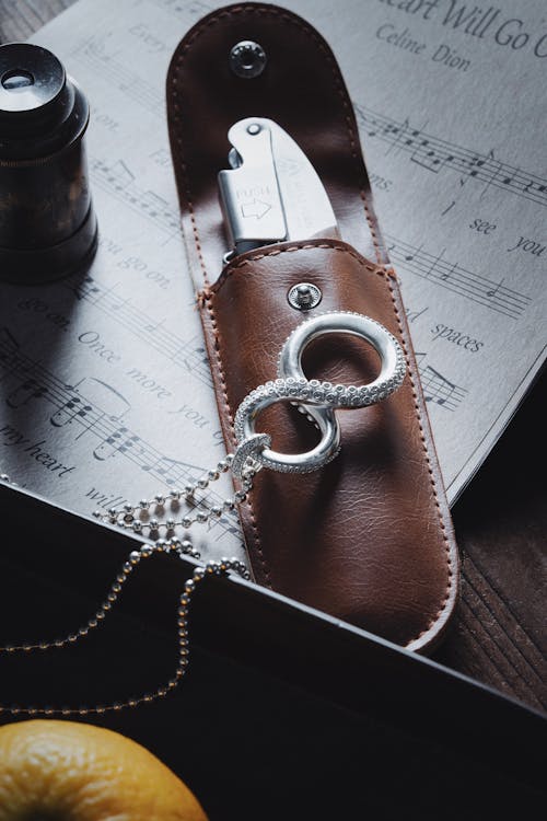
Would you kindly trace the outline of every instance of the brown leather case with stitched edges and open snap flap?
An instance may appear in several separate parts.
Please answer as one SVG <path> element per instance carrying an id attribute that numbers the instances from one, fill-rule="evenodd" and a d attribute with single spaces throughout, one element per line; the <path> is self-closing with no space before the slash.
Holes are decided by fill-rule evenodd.
<path id="1" fill-rule="evenodd" d="M 237 78 L 238 42 L 259 43 L 264 72 Z M 354 311 L 385 325 L 408 365 L 379 405 L 341 410 L 341 452 L 313 474 L 263 470 L 240 517 L 255 580 L 412 650 L 431 649 L 454 609 L 458 556 L 396 276 L 372 207 L 351 102 L 325 41 L 299 16 L 244 3 L 213 12 L 181 42 L 167 77 L 167 113 L 183 230 L 226 447 L 254 388 L 275 379 L 287 336 L 303 320 L 287 293 L 317 285 L 314 311 Z M 226 239 L 217 174 L 228 130 L 269 117 L 306 153 L 330 197 L 344 241 L 268 245 L 222 267 Z M 313 313 L 313 312 L 312 312 Z M 309 378 L 359 384 L 377 357 L 347 335 L 313 343 Z M 263 423 L 264 418 L 264 423 Z M 272 447 L 309 449 L 316 432 L 287 404 L 260 429 Z"/>

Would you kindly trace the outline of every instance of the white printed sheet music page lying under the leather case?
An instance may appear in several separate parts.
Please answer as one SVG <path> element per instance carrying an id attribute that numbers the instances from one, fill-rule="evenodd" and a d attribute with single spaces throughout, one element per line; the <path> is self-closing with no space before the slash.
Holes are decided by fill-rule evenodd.
<path id="1" fill-rule="evenodd" d="M 545 357 L 543 2 L 284 4 L 327 36 L 354 101 L 453 501 Z M 78 512 L 194 481 L 224 452 L 164 103 L 177 42 L 212 8 L 80 0 L 33 37 L 90 99 L 101 243 L 84 277 L 1 285 L 0 465 Z M 196 542 L 243 557 L 233 514 Z"/>

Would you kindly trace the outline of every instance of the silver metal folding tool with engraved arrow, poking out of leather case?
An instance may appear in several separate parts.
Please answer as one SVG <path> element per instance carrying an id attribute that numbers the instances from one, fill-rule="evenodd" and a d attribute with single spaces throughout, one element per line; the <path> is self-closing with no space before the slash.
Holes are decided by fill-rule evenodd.
<path id="1" fill-rule="evenodd" d="M 246 117 L 229 134 L 219 189 L 233 252 L 283 240 L 338 238 L 327 193 L 302 149 L 277 123 Z"/>

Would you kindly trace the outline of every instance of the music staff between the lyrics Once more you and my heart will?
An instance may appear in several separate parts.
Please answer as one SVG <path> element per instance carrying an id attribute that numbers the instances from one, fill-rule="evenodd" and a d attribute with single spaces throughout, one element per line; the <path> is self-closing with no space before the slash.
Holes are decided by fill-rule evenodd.
<path id="1" fill-rule="evenodd" d="M 167 487 L 181 487 L 203 475 L 202 469 L 162 454 L 124 425 L 121 416 L 108 415 L 78 388 L 65 384 L 50 373 L 39 360 L 22 354 L 5 328 L 0 329 L 0 370 L 4 379 L 15 377 L 19 380 L 14 391 L 4 397 L 10 407 L 21 407 L 32 400 L 49 402 L 55 408 L 49 417 L 54 427 L 75 423 L 81 428 L 75 439 L 90 433 L 100 440 L 93 451 L 97 461 L 119 454 Z M 222 505 L 219 494 L 209 490 L 209 496 L 213 504 Z M 238 533 L 235 522 L 228 517 L 211 521 L 211 529 L 217 527 L 222 533 Z"/>

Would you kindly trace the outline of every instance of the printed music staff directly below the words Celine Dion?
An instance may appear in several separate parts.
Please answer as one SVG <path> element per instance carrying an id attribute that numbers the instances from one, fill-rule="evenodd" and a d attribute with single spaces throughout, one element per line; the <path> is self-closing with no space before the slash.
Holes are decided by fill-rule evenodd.
<path id="1" fill-rule="evenodd" d="M 354 103 L 358 122 L 368 137 L 387 142 L 389 150 L 410 154 L 410 160 L 434 174 L 450 169 L 468 178 L 485 183 L 542 206 L 547 206 L 547 180 L 498 160 L 493 151 L 481 153 L 447 142 L 420 128 L 408 119 L 395 120 Z"/>

